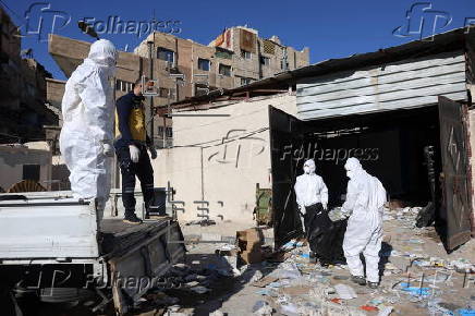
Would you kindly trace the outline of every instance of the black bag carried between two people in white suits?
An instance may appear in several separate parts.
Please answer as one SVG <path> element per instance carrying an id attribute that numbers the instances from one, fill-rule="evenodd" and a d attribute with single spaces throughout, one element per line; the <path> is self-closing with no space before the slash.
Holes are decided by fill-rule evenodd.
<path id="1" fill-rule="evenodd" d="M 343 236 L 345 222 L 332 222 L 321 203 L 305 207 L 304 224 L 310 251 L 320 263 L 344 262 Z"/>

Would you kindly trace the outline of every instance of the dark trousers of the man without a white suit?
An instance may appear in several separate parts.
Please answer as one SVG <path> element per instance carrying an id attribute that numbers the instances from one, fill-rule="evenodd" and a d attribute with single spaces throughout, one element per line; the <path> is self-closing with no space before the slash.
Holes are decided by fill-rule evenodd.
<path id="1" fill-rule="evenodd" d="M 137 146 L 141 149 L 138 162 L 132 162 L 129 146 L 115 149 L 119 166 L 122 174 L 122 202 L 125 215 L 135 211 L 135 177 L 141 181 L 142 194 L 144 195 L 145 209 L 148 208 L 154 199 L 154 169 L 145 146 Z"/>

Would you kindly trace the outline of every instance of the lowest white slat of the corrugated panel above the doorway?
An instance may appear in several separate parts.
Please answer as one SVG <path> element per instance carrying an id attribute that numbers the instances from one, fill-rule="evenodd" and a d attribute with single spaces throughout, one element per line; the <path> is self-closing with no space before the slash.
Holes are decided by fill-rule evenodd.
<path id="1" fill-rule="evenodd" d="M 444 94 L 443 96 L 454 100 L 463 100 L 466 99 L 467 97 L 466 90 Z M 299 113 L 297 117 L 301 120 L 316 120 L 316 119 L 326 119 L 326 118 L 343 117 L 343 116 L 351 116 L 351 114 L 365 114 L 370 112 L 389 111 L 389 110 L 397 110 L 397 109 L 414 109 L 414 108 L 436 105 L 437 97 L 438 97 L 437 95 L 422 96 L 422 97 L 414 97 L 403 100 L 392 100 L 392 101 L 385 102 L 383 105 L 366 104 L 366 105 L 358 105 L 354 107 L 346 107 L 340 109 L 315 109 L 312 111 Z"/>

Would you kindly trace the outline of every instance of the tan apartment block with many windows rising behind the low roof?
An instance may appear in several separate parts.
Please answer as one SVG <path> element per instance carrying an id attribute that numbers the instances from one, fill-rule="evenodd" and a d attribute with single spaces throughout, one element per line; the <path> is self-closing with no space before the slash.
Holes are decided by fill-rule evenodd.
<path id="1" fill-rule="evenodd" d="M 148 57 L 149 41 L 155 47 L 160 86 L 178 88 L 175 100 L 206 94 L 206 89 L 239 87 L 309 63 L 308 48 L 299 51 L 283 46 L 277 36 L 259 38 L 256 29 L 244 26 L 226 29 L 208 46 L 154 33 L 134 52 Z M 175 87 L 169 73 L 184 74 L 187 85 Z"/>

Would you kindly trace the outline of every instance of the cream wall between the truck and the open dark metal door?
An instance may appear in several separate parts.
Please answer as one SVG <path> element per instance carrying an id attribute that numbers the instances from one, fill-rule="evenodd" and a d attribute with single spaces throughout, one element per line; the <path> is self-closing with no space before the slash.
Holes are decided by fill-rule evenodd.
<path id="1" fill-rule="evenodd" d="M 211 219 L 222 216 L 224 220 L 253 223 L 256 183 L 270 187 L 269 105 L 296 113 L 295 96 L 282 94 L 220 104 L 223 107 L 205 112 L 229 117 L 173 118 L 175 147 L 159 150 L 153 166 L 156 186 L 170 181 L 176 190 L 174 199 L 185 203 L 180 219 L 197 219 L 197 207 L 205 205 L 194 202 L 203 198 L 209 203 Z M 235 139 L 253 132 L 245 139 Z M 222 144 L 223 138 L 230 143 Z"/>

